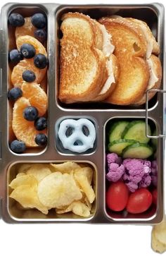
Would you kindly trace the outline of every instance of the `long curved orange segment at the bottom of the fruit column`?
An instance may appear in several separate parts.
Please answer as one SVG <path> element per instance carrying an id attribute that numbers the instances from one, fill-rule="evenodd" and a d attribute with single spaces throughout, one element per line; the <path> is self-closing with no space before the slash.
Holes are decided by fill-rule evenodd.
<path id="1" fill-rule="evenodd" d="M 27 147 L 38 147 L 34 142 L 34 138 L 40 132 L 34 128 L 34 122 L 27 121 L 23 117 L 23 111 L 27 106 L 31 106 L 30 101 L 25 97 L 18 99 L 13 107 L 12 128 L 15 137 L 25 142 Z M 42 130 L 46 134 L 46 130 Z"/>

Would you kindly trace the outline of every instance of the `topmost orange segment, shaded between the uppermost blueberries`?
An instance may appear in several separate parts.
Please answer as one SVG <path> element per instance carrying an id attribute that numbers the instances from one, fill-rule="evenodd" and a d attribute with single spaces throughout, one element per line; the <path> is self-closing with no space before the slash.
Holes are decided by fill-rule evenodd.
<path id="1" fill-rule="evenodd" d="M 17 39 L 23 35 L 30 35 L 31 37 L 34 37 L 35 30 L 37 30 L 37 28 L 32 25 L 31 17 L 26 17 L 24 25 L 15 28 L 15 38 Z"/>

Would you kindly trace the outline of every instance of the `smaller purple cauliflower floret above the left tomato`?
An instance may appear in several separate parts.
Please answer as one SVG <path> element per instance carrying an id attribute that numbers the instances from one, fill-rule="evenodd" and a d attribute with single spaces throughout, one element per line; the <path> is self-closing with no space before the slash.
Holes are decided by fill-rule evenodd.
<path id="1" fill-rule="evenodd" d="M 116 182 L 120 180 L 124 172 L 125 167 L 122 164 L 120 166 L 118 164 L 110 164 L 106 177 L 108 181 Z"/>

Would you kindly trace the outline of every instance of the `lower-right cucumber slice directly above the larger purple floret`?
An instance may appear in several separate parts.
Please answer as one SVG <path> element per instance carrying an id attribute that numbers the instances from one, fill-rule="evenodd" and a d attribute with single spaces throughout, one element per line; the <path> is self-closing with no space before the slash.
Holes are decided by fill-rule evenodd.
<path id="1" fill-rule="evenodd" d="M 153 154 L 153 148 L 145 143 L 129 145 L 122 151 L 123 158 L 146 159 Z"/>

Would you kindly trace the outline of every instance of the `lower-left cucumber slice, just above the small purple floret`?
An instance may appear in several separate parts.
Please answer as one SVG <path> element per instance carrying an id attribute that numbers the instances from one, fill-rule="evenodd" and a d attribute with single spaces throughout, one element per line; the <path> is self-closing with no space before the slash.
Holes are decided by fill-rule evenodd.
<path id="1" fill-rule="evenodd" d="M 135 144 L 135 140 L 114 140 L 108 145 L 109 152 L 116 153 L 118 155 L 122 154 L 122 151 L 125 149 L 125 147 Z"/>

